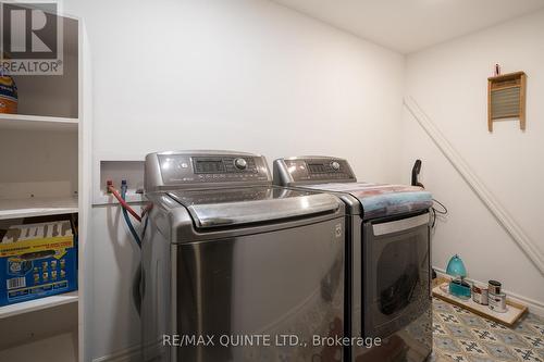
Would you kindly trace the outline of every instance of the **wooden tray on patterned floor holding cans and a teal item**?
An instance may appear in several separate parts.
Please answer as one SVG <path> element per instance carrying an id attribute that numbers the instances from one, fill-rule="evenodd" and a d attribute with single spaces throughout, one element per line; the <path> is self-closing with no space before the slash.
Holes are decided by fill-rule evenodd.
<path id="1" fill-rule="evenodd" d="M 460 308 L 465 308 L 466 310 L 471 311 L 474 314 L 486 317 L 487 320 L 504 324 L 508 327 L 514 327 L 516 322 L 527 312 L 527 307 L 512 302 L 509 299 L 506 299 L 506 308 L 507 311 L 505 313 L 499 313 L 492 311 L 487 305 L 482 305 L 472 300 L 472 298 L 468 300 L 459 299 L 457 297 L 452 296 L 447 291 L 448 282 L 442 283 L 433 288 L 433 296 L 445 300 L 448 303 L 458 305 Z M 443 288 L 445 287 L 445 290 Z"/>

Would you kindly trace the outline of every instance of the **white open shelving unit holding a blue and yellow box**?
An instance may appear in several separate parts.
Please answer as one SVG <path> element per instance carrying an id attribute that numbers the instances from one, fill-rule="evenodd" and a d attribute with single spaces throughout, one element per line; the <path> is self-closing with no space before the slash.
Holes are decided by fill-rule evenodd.
<path id="1" fill-rule="evenodd" d="M 55 348 L 75 351 L 82 360 L 85 353 L 83 316 L 89 307 L 83 300 L 84 288 L 90 285 L 84 274 L 89 264 L 85 250 L 91 178 L 90 53 L 79 18 L 64 16 L 62 28 L 64 74 L 15 75 L 20 114 L 0 114 L 0 229 L 22 219 L 77 213 L 78 290 L 0 307 L 0 355 L 9 355 L 13 346 L 54 339 L 61 329 L 70 330 L 73 346 Z M 55 322 L 42 324 L 41 320 Z M 40 353 L 33 351 L 33 355 Z"/>

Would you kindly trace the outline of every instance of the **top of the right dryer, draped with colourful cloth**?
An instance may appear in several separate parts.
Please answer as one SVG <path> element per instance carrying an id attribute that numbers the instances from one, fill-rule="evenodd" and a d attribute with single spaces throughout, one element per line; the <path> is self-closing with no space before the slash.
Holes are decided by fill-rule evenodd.
<path id="1" fill-rule="evenodd" d="M 431 192 L 419 186 L 338 183 L 305 185 L 305 188 L 351 195 L 361 203 L 363 220 L 426 210 L 433 205 Z"/>

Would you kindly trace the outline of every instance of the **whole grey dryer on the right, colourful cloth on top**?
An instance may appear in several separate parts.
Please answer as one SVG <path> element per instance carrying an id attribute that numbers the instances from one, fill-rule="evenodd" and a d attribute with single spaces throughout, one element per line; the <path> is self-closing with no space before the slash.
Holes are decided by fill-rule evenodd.
<path id="1" fill-rule="evenodd" d="M 274 161 L 274 184 L 338 196 L 346 204 L 346 330 L 351 361 L 423 361 L 432 351 L 429 210 L 421 187 L 358 183 L 344 159 Z M 372 344 L 371 344 L 372 345 Z"/>

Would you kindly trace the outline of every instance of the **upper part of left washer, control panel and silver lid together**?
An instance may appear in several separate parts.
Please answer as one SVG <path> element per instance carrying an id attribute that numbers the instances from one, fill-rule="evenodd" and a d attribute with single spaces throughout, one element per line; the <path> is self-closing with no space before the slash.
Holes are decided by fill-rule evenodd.
<path id="1" fill-rule="evenodd" d="M 148 198 L 160 194 L 172 200 L 164 201 L 169 208 L 187 210 L 197 228 L 335 213 L 343 205 L 327 194 L 272 186 L 267 160 L 245 152 L 150 153 L 144 187 Z"/>

